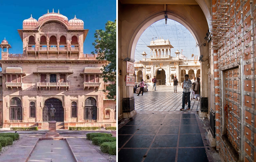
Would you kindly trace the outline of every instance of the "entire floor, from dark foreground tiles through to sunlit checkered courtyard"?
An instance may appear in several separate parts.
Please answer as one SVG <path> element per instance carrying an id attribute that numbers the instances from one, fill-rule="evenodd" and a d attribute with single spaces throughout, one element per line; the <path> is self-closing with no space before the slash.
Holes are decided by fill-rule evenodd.
<path id="1" fill-rule="evenodd" d="M 118 125 L 118 161 L 122 162 L 220 162 L 207 138 L 209 121 L 199 118 L 199 101 L 191 110 L 181 108 L 182 89 L 158 86 L 157 91 L 135 96 L 133 119 Z"/>

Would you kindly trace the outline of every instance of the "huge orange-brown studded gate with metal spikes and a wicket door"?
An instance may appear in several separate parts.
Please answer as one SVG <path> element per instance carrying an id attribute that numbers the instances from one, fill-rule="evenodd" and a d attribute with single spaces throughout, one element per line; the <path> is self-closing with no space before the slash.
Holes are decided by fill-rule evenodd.
<path id="1" fill-rule="evenodd" d="M 229 5 L 220 5 L 219 3 L 228 3 Z M 230 26 L 224 33 L 225 37 L 229 37 L 228 41 L 224 41 L 221 47 L 215 46 L 218 49 L 213 51 L 216 148 L 226 162 L 256 161 L 255 3 L 256 0 L 212 1 L 213 19 L 218 17 L 216 14 L 220 14 L 217 12 L 218 10 L 225 10 L 222 13 L 230 16 L 221 14 L 221 18 L 227 18 L 222 24 L 227 23 L 227 26 Z M 227 7 L 227 9 L 220 7 Z M 220 27 L 213 28 L 220 29 Z M 217 40 L 218 38 L 212 39 Z M 227 114 L 224 113 L 226 103 L 230 106 Z M 228 142 L 224 142 L 224 134 L 228 134 L 226 138 Z M 234 152 L 237 152 L 238 156 L 234 155 Z"/>

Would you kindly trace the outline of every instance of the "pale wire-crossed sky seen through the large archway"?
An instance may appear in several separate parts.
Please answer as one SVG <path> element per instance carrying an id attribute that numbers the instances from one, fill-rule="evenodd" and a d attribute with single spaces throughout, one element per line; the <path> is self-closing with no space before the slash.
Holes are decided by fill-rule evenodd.
<path id="1" fill-rule="evenodd" d="M 150 49 L 147 47 L 150 45 L 150 41 L 158 38 L 169 39 L 171 45 L 174 47 L 171 49 L 171 56 L 176 56 L 174 52 L 178 49 L 179 52 L 183 50 L 182 55 L 187 59 L 194 60 L 191 55 L 198 56 L 198 48 L 196 48 L 196 41 L 188 29 L 175 20 L 168 19 L 165 24 L 165 19 L 159 20 L 150 25 L 140 36 L 135 50 L 135 60 L 142 60 L 143 51 L 150 57 Z"/>

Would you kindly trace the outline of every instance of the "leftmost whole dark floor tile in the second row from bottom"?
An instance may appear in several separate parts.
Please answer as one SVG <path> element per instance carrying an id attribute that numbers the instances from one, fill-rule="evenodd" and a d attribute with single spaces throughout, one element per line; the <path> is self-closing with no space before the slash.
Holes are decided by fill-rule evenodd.
<path id="1" fill-rule="evenodd" d="M 124 147 L 149 147 L 155 135 L 134 135 Z"/>

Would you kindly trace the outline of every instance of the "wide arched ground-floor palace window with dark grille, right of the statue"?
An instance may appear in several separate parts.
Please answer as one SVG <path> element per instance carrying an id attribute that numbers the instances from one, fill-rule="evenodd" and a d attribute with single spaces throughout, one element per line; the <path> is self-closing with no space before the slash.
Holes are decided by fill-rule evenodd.
<path id="1" fill-rule="evenodd" d="M 92 97 L 87 98 L 85 101 L 84 119 L 97 120 L 96 100 Z"/>

